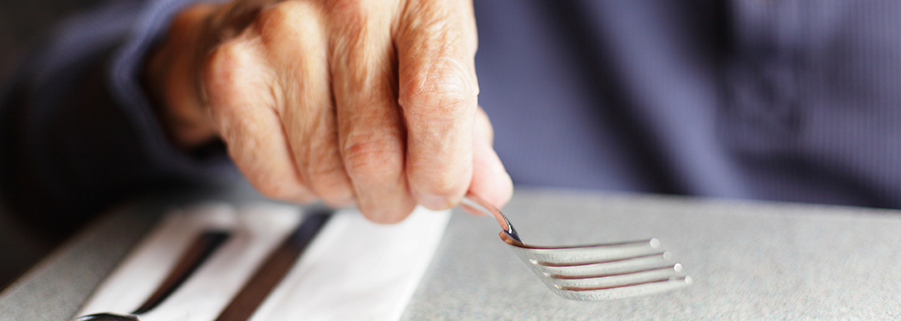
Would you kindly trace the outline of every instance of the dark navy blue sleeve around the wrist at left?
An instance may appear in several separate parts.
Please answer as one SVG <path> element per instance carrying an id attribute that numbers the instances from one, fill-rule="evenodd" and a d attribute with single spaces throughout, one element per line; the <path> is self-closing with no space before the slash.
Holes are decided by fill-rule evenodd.
<path id="1" fill-rule="evenodd" d="M 236 172 L 221 149 L 174 149 L 142 90 L 144 56 L 191 2 L 113 1 L 73 17 L 6 79 L 0 191 L 14 212 L 65 231 L 124 197 Z"/>

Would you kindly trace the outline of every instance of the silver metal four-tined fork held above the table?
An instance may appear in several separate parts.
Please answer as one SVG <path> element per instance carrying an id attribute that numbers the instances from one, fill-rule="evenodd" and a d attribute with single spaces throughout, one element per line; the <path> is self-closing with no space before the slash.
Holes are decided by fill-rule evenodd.
<path id="1" fill-rule="evenodd" d="M 673 262 L 656 238 L 609 244 L 547 247 L 525 244 L 510 220 L 491 203 L 469 193 L 461 207 L 494 216 L 501 240 L 510 245 L 552 292 L 590 301 L 656 294 L 680 289 L 692 279 Z"/>

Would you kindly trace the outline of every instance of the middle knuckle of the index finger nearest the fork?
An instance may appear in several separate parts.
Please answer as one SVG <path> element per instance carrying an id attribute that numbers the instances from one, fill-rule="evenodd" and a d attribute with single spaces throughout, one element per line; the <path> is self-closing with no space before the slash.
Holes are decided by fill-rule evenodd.
<path id="1" fill-rule="evenodd" d="M 422 120 L 453 120 L 470 113 L 479 87 L 468 68 L 453 59 L 439 59 L 418 69 L 400 93 L 405 114 Z"/>

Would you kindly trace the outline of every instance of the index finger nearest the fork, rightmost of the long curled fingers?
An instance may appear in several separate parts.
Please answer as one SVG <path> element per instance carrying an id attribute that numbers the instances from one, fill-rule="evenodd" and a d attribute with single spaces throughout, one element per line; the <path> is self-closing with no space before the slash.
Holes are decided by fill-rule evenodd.
<path id="1" fill-rule="evenodd" d="M 410 5 L 398 32 L 406 171 L 416 200 L 431 209 L 459 202 L 473 177 L 475 27 L 471 4 L 450 3 Z"/>

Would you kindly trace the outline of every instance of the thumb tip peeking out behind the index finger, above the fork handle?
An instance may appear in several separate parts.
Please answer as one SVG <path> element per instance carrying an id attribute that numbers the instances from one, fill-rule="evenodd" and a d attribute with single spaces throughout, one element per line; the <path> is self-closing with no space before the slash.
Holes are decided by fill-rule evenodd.
<path id="1" fill-rule="evenodd" d="M 501 208 L 513 196 L 513 181 L 491 147 L 494 133 L 488 115 L 480 108 L 473 128 L 472 184 L 469 191 Z"/>

